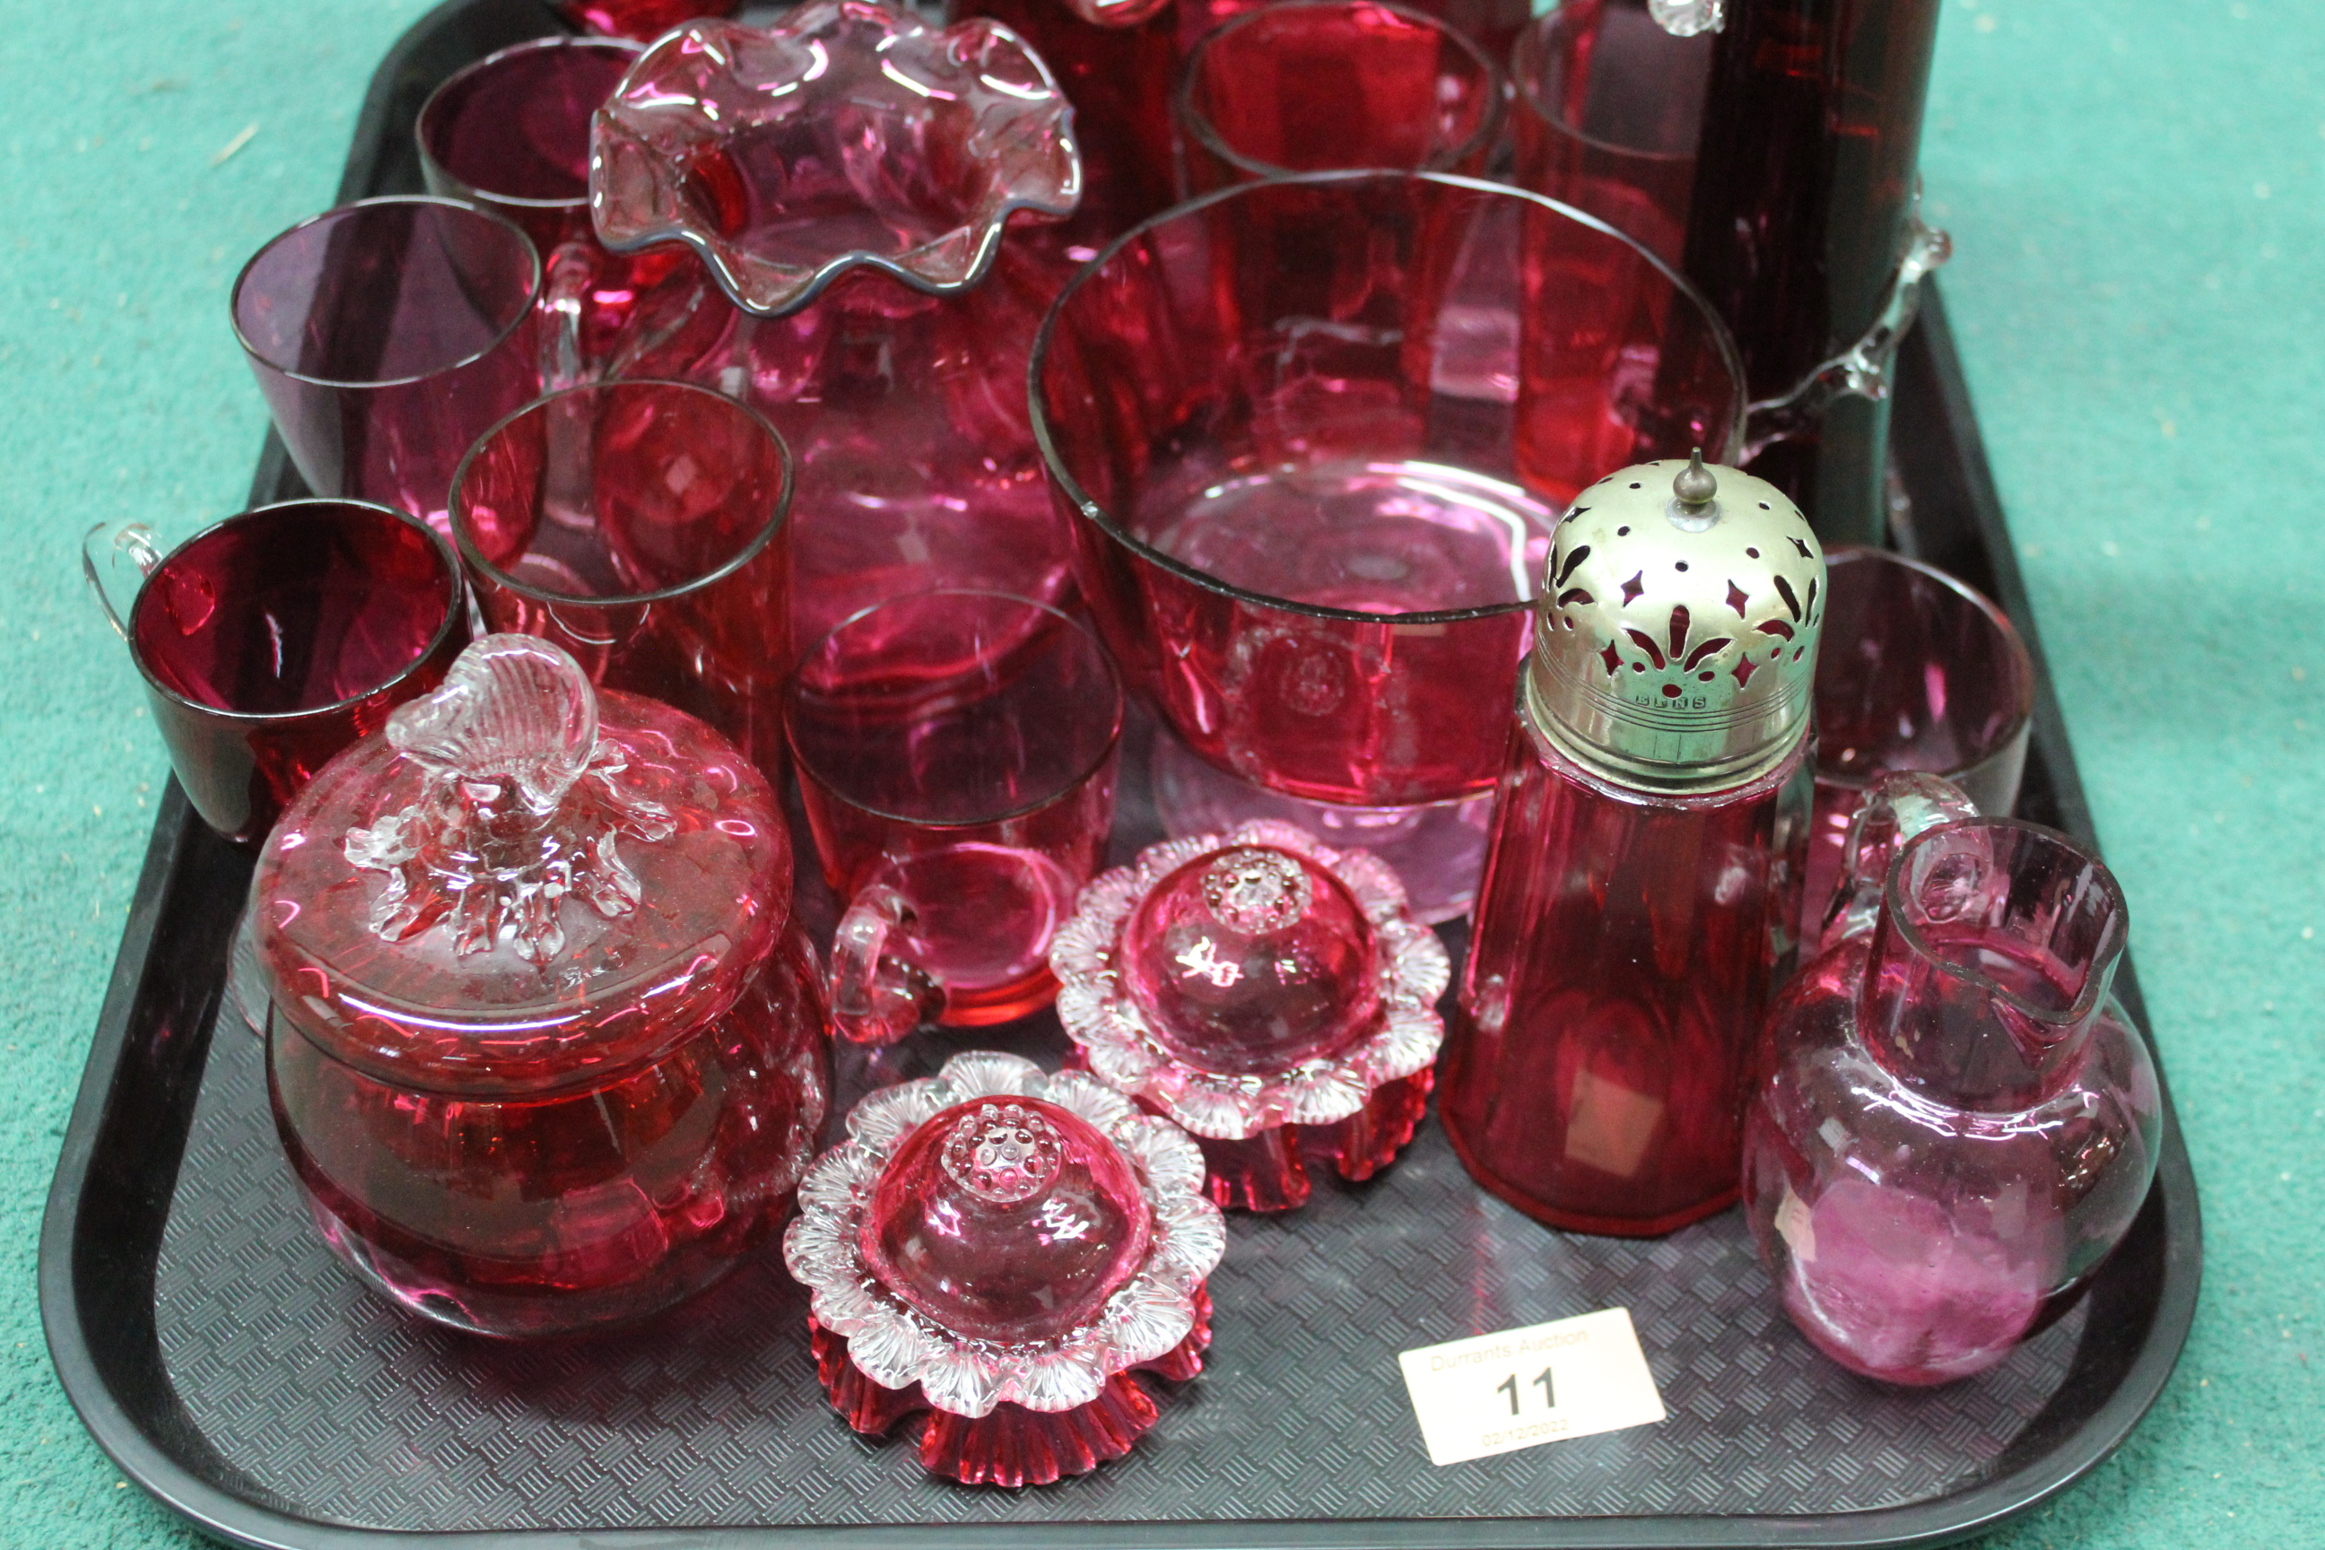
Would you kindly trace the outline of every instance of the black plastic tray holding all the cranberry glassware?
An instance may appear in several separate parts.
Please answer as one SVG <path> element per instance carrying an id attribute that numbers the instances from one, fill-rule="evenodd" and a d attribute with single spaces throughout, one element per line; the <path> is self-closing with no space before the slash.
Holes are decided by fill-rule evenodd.
<path id="1" fill-rule="evenodd" d="M 456 0 L 379 67 L 342 198 L 419 186 L 412 119 L 463 63 L 556 30 Z M 1932 295 L 1907 339 L 1893 525 L 2041 648 Z M 270 439 L 256 495 L 295 490 Z M 2044 681 L 2020 813 L 2092 841 Z M 1158 837 L 1142 748 L 1116 860 Z M 811 871 L 811 869 L 809 869 Z M 172 783 L 40 1248 L 65 1392 L 130 1480 L 251 1545 L 1918 1545 L 2023 1513 L 2155 1401 L 2195 1313 L 2199 1220 L 2165 1097 L 2158 1185 L 2090 1294 L 1993 1373 L 1895 1392 L 1816 1357 L 1725 1213 L 1653 1243 L 1546 1232 L 1423 1127 L 1386 1178 L 1230 1218 L 1216 1346 L 1139 1448 L 1030 1492 L 923 1476 L 814 1380 L 774 1255 L 642 1329 L 509 1348 L 421 1327 L 323 1250 L 265 1113 L 260 1046 L 212 1032 L 249 857 Z M 802 909 L 828 918 L 828 899 Z M 1460 932 L 1448 941 L 1460 946 Z M 2118 988 L 2141 1018 L 2125 964 Z M 904 1046 L 904 1067 L 958 1041 Z M 1053 1060 L 1051 1018 L 979 1043 Z M 895 1062 L 890 1062 L 890 1076 Z M 842 1101 L 867 1081 L 842 1060 Z M 1435 1469 L 1395 1352 L 1628 1306 L 1669 1420 Z"/>

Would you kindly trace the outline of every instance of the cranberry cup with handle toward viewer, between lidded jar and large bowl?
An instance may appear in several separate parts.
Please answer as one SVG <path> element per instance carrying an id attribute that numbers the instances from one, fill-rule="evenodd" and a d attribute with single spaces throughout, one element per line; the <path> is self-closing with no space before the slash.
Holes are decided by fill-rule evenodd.
<path id="1" fill-rule="evenodd" d="M 800 660 L 791 753 L 846 913 L 832 1016 L 890 1043 L 1056 995 L 1049 946 L 1114 825 L 1123 690 L 1065 613 L 935 590 L 865 609 Z"/>

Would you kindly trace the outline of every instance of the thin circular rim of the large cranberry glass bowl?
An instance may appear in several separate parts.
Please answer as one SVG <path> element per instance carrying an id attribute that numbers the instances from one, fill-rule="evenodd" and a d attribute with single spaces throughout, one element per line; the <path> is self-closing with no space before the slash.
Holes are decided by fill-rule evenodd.
<path id="1" fill-rule="evenodd" d="M 1035 446 L 1042 451 L 1044 472 L 1049 474 L 1051 481 L 1056 481 L 1056 486 L 1074 504 L 1074 511 L 1081 514 L 1083 521 L 1095 523 L 1109 539 L 1114 539 L 1116 544 L 1130 548 L 1132 553 L 1137 553 L 1149 565 L 1156 565 L 1156 567 L 1160 567 L 1160 569 L 1179 576 L 1181 581 L 1190 581 L 1193 586 L 1200 586 L 1207 593 L 1218 593 L 1221 597 L 1230 597 L 1230 600 L 1235 600 L 1239 604 L 1246 604 L 1246 607 L 1276 609 L 1276 611 L 1297 613 L 1297 616 L 1304 616 L 1304 618 L 1332 618 L 1332 620 L 1358 623 L 1358 625 L 1453 625 L 1453 623 L 1465 623 L 1465 620 L 1472 620 L 1472 618 L 1493 618 L 1497 613 L 1516 613 L 1521 609 L 1532 609 L 1535 607 L 1535 597 L 1528 595 L 1528 597 L 1516 597 L 1511 602 L 1488 602 L 1488 604 L 1474 604 L 1474 607 L 1467 607 L 1467 609 L 1418 609 L 1418 611 L 1409 611 L 1409 613 L 1362 613 L 1358 609 L 1335 609 L 1335 607 L 1318 604 L 1318 602 L 1293 602 L 1290 597 L 1272 597 L 1267 593 L 1253 593 L 1253 590 L 1239 588 L 1239 586 L 1235 586 L 1230 581 L 1221 581 L 1218 576 L 1214 576 L 1209 572 L 1195 569 L 1186 560 L 1167 555 L 1160 548 L 1156 548 L 1156 546 L 1146 544 L 1144 539 L 1135 537 L 1128 528 L 1123 528 L 1114 518 L 1114 514 L 1109 514 L 1104 507 L 1100 507 L 1090 497 L 1090 493 L 1081 488 L 1081 481 L 1074 479 L 1072 469 L 1065 467 L 1065 458 L 1058 451 L 1058 435 L 1051 428 L 1051 414 L 1049 414 L 1049 407 L 1044 404 L 1046 395 L 1044 395 L 1044 388 L 1042 388 L 1042 376 L 1044 376 L 1044 367 L 1049 365 L 1051 342 L 1056 339 L 1056 332 L 1058 332 L 1058 318 L 1065 316 L 1067 304 L 1072 304 L 1072 300 L 1081 293 L 1081 288 L 1090 281 L 1093 274 L 1102 272 L 1109 263 L 1114 263 L 1114 258 L 1123 249 L 1128 249 L 1132 242 L 1144 239 L 1149 232 L 1162 228 L 1165 223 L 1183 221 L 1188 216 L 1195 216 L 1195 214 L 1209 209 L 1211 204 L 1223 204 L 1228 200 L 1253 198 L 1253 195 L 1260 195 L 1260 193 L 1267 193 L 1267 191 L 1274 191 L 1274 188 L 1339 188 L 1339 186 L 1351 186 L 1353 188 L 1353 186 L 1374 184 L 1374 181 L 1439 184 L 1444 188 L 1460 188 L 1460 191 L 1493 195 L 1493 198 L 1523 200 L 1528 204 L 1537 204 L 1541 209 L 1548 209 L 1548 211 L 1553 211 L 1553 214 L 1558 214 L 1558 216 L 1562 216 L 1562 218 L 1567 218 L 1567 221 L 1572 221 L 1576 225 L 1590 228 L 1590 230 L 1595 230 L 1595 232 L 1600 232 L 1604 237 L 1614 237 L 1616 242 L 1621 242 L 1623 246 L 1628 246 L 1644 263 L 1653 265 L 1655 274 L 1665 277 L 1679 295 L 1683 295 L 1688 302 L 1695 304 L 1695 309 L 1702 314 L 1704 325 L 1711 332 L 1711 342 L 1718 349 L 1721 363 L 1727 367 L 1727 376 L 1734 383 L 1734 409 L 1727 416 L 1727 425 L 1723 425 L 1725 442 L 1718 449 L 1707 449 L 1707 455 L 1723 458 L 1723 455 L 1727 455 L 1730 451 L 1734 451 L 1734 449 L 1739 449 L 1744 444 L 1744 411 L 1748 409 L 1748 390 L 1744 386 L 1744 356 L 1737 351 L 1737 342 L 1734 342 L 1734 335 L 1727 330 L 1727 321 L 1718 314 L 1718 309 L 1709 300 L 1704 300 L 1702 290 L 1697 290 L 1693 284 L 1688 284 L 1688 279 L 1679 270 L 1674 270 L 1669 263 L 1665 263 L 1653 251 L 1648 251 L 1639 239 L 1630 237 L 1628 232 L 1623 232 L 1616 225 L 1609 225 L 1607 221 L 1600 221 L 1597 216 L 1593 216 L 1588 211 L 1574 209 L 1572 204 L 1562 204 L 1560 200 L 1553 200 L 1553 198 L 1541 195 L 1541 193 L 1528 193 L 1525 188 L 1511 188 L 1509 184 L 1493 184 L 1493 181 L 1476 179 L 1476 177 L 1458 177 L 1453 172 L 1346 170 L 1346 172 L 1300 172 L 1300 174 L 1293 174 L 1293 177 L 1272 177 L 1272 179 L 1265 179 L 1265 181 L 1258 181 L 1258 184 L 1235 184 L 1230 188 L 1218 188 L 1218 191 L 1207 193 L 1202 198 L 1188 200 L 1186 204 L 1172 204 L 1162 214 L 1149 216 L 1146 221 L 1139 221 L 1128 232 L 1123 232 L 1121 237 L 1116 237 L 1114 242 L 1109 242 L 1104 246 L 1104 251 L 1097 253 L 1097 258 L 1093 258 L 1090 263 L 1081 265 L 1081 270 L 1074 272 L 1074 277 L 1065 284 L 1065 288 L 1058 293 L 1058 297 L 1049 304 L 1049 314 L 1042 318 L 1042 328 L 1035 332 L 1032 358 L 1030 358 L 1028 374 L 1025 374 L 1025 397 L 1028 397 L 1028 404 L 1032 409 L 1032 439 L 1035 439 Z"/>

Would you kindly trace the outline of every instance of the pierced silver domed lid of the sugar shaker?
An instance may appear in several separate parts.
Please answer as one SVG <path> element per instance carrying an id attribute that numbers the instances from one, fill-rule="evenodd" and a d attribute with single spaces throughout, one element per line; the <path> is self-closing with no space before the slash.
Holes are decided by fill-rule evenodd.
<path id="1" fill-rule="evenodd" d="M 1744 785 L 1809 730 L 1825 555 L 1776 486 L 1641 462 L 1574 497 L 1535 602 L 1525 716 L 1583 769 Z"/>

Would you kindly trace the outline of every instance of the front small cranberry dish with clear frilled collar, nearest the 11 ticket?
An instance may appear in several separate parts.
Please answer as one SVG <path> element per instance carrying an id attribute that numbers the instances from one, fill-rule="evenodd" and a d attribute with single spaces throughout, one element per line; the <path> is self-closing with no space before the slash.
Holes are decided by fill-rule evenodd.
<path id="1" fill-rule="evenodd" d="M 816 1157 L 784 1262 L 816 1373 L 858 1431 L 928 1413 L 921 1462 L 1049 1485 L 1153 1427 L 1130 1376 L 1202 1371 L 1228 1246 L 1202 1153 L 1083 1071 L 953 1055 L 863 1099 Z"/>

